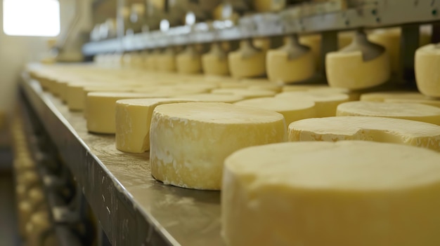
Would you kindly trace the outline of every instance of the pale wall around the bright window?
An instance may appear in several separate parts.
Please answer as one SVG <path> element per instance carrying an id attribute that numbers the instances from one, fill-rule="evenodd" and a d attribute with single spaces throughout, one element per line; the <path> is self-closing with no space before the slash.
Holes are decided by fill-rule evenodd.
<path id="1" fill-rule="evenodd" d="M 37 0 L 36 0 L 37 1 Z M 60 1 L 61 33 L 73 20 L 75 0 Z M 48 50 L 46 37 L 7 36 L 3 32 L 3 1 L 0 0 L 0 111 L 11 111 L 20 72 L 27 62 L 37 62 Z"/>

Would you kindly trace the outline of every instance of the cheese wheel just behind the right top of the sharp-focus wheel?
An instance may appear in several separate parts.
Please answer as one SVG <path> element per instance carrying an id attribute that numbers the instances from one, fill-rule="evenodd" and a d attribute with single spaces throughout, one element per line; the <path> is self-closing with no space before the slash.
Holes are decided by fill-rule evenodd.
<path id="1" fill-rule="evenodd" d="M 267 109 L 283 114 L 286 125 L 304 118 L 316 117 L 315 102 L 281 97 L 261 97 L 235 102 L 235 105 Z"/>

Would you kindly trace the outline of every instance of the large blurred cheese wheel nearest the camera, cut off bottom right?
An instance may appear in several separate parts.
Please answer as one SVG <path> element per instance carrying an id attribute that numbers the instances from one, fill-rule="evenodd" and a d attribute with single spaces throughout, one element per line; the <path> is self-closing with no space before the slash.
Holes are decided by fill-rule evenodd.
<path id="1" fill-rule="evenodd" d="M 440 154 L 363 141 L 252 146 L 225 160 L 226 244 L 440 245 Z"/>

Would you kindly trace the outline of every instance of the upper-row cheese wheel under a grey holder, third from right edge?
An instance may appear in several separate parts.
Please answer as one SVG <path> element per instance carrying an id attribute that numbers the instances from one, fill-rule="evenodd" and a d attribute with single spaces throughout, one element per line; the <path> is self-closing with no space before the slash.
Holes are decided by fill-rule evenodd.
<path id="1" fill-rule="evenodd" d="M 271 81 L 295 83 L 311 78 L 316 71 L 313 53 L 290 60 L 283 49 L 268 50 L 266 58 L 267 76 Z"/>

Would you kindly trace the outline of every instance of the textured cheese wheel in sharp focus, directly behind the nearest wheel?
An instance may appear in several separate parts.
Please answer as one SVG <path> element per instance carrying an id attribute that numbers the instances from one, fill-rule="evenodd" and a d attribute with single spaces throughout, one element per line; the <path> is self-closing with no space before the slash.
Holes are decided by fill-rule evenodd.
<path id="1" fill-rule="evenodd" d="M 164 184 L 219 190 L 226 156 L 246 146 L 284 142 L 284 117 L 221 102 L 165 104 L 150 126 L 151 174 Z"/>

